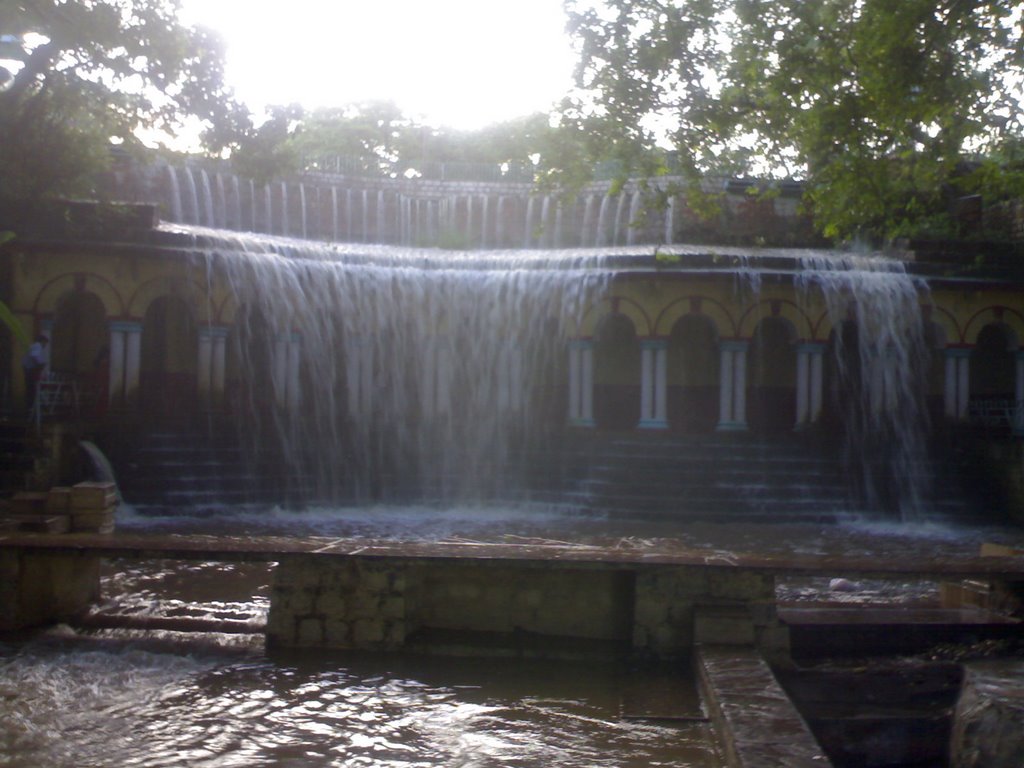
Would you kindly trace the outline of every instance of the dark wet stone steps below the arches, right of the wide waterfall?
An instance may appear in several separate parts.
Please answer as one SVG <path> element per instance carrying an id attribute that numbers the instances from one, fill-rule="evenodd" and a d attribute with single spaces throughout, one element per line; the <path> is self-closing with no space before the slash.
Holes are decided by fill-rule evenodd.
<path id="1" fill-rule="evenodd" d="M 857 490 L 860 470 L 801 435 L 681 436 L 594 433 L 569 447 L 563 503 L 610 514 L 699 521 L 831 522 L 885 515 Z M 955 473 L 932 462 L 916 468 L 924 504 L 946 517 L 964 513 Z"/>

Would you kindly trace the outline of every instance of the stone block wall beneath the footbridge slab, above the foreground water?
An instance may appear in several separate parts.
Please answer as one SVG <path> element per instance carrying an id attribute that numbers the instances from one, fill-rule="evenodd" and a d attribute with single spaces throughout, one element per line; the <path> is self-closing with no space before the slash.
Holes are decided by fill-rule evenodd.
<path id="1" fill-rule="evenodd" d="M 784 644 L 772 577 L 739 569 L 398 557 L 278 566 L 270 646 L 386 650 L 431 633 L 460 645 L 482 635 L 567 639 L 659 657 L 698 641 Z"/>

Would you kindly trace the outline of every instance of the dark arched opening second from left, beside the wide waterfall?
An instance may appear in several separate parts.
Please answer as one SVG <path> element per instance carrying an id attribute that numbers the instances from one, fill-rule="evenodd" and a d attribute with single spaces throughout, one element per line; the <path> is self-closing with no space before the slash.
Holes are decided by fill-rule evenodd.
<path id="1" fill-rule="evenodd" d="M 196 415 L 199 337 L 188 305 L 174 296 L 150 304 L 142 319 L 139 401 L 162 425 L 187 424 Z"/>

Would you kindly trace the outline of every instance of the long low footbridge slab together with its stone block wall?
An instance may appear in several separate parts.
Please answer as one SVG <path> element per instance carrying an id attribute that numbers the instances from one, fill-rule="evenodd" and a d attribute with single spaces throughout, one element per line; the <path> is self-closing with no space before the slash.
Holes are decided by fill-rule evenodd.
<path id="1" fill-rule="evenodd" d="M 774 596 L 779 574 L 1013 581 L 1024 571 L 1020 558 L 949 563 L 722 557 L 667 541 L 601 547 L 13 534 L 0 536 L 0 552 L 15 558 L 12 562 L 29 557 L 280 562 L 267 626 L 268 642 L 279 647 L 387 650 L 478 647 L 483 641 L 506 653 L 560 648 L 663 657 L 685 655 L 695 642 L 756 644 L 769 655 L 785 653 L 788 635 Z"/>

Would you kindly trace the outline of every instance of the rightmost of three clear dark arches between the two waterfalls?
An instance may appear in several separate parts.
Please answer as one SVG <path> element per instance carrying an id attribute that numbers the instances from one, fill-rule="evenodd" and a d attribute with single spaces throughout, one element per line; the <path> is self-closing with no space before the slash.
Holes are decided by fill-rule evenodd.
<path id="1" fill-rule="evenodd" d="M 797 420 L 797 338 L 783 317 L 765 317 L 751 339 L 746 419 L 760 434 L 792 431 Z"/>

